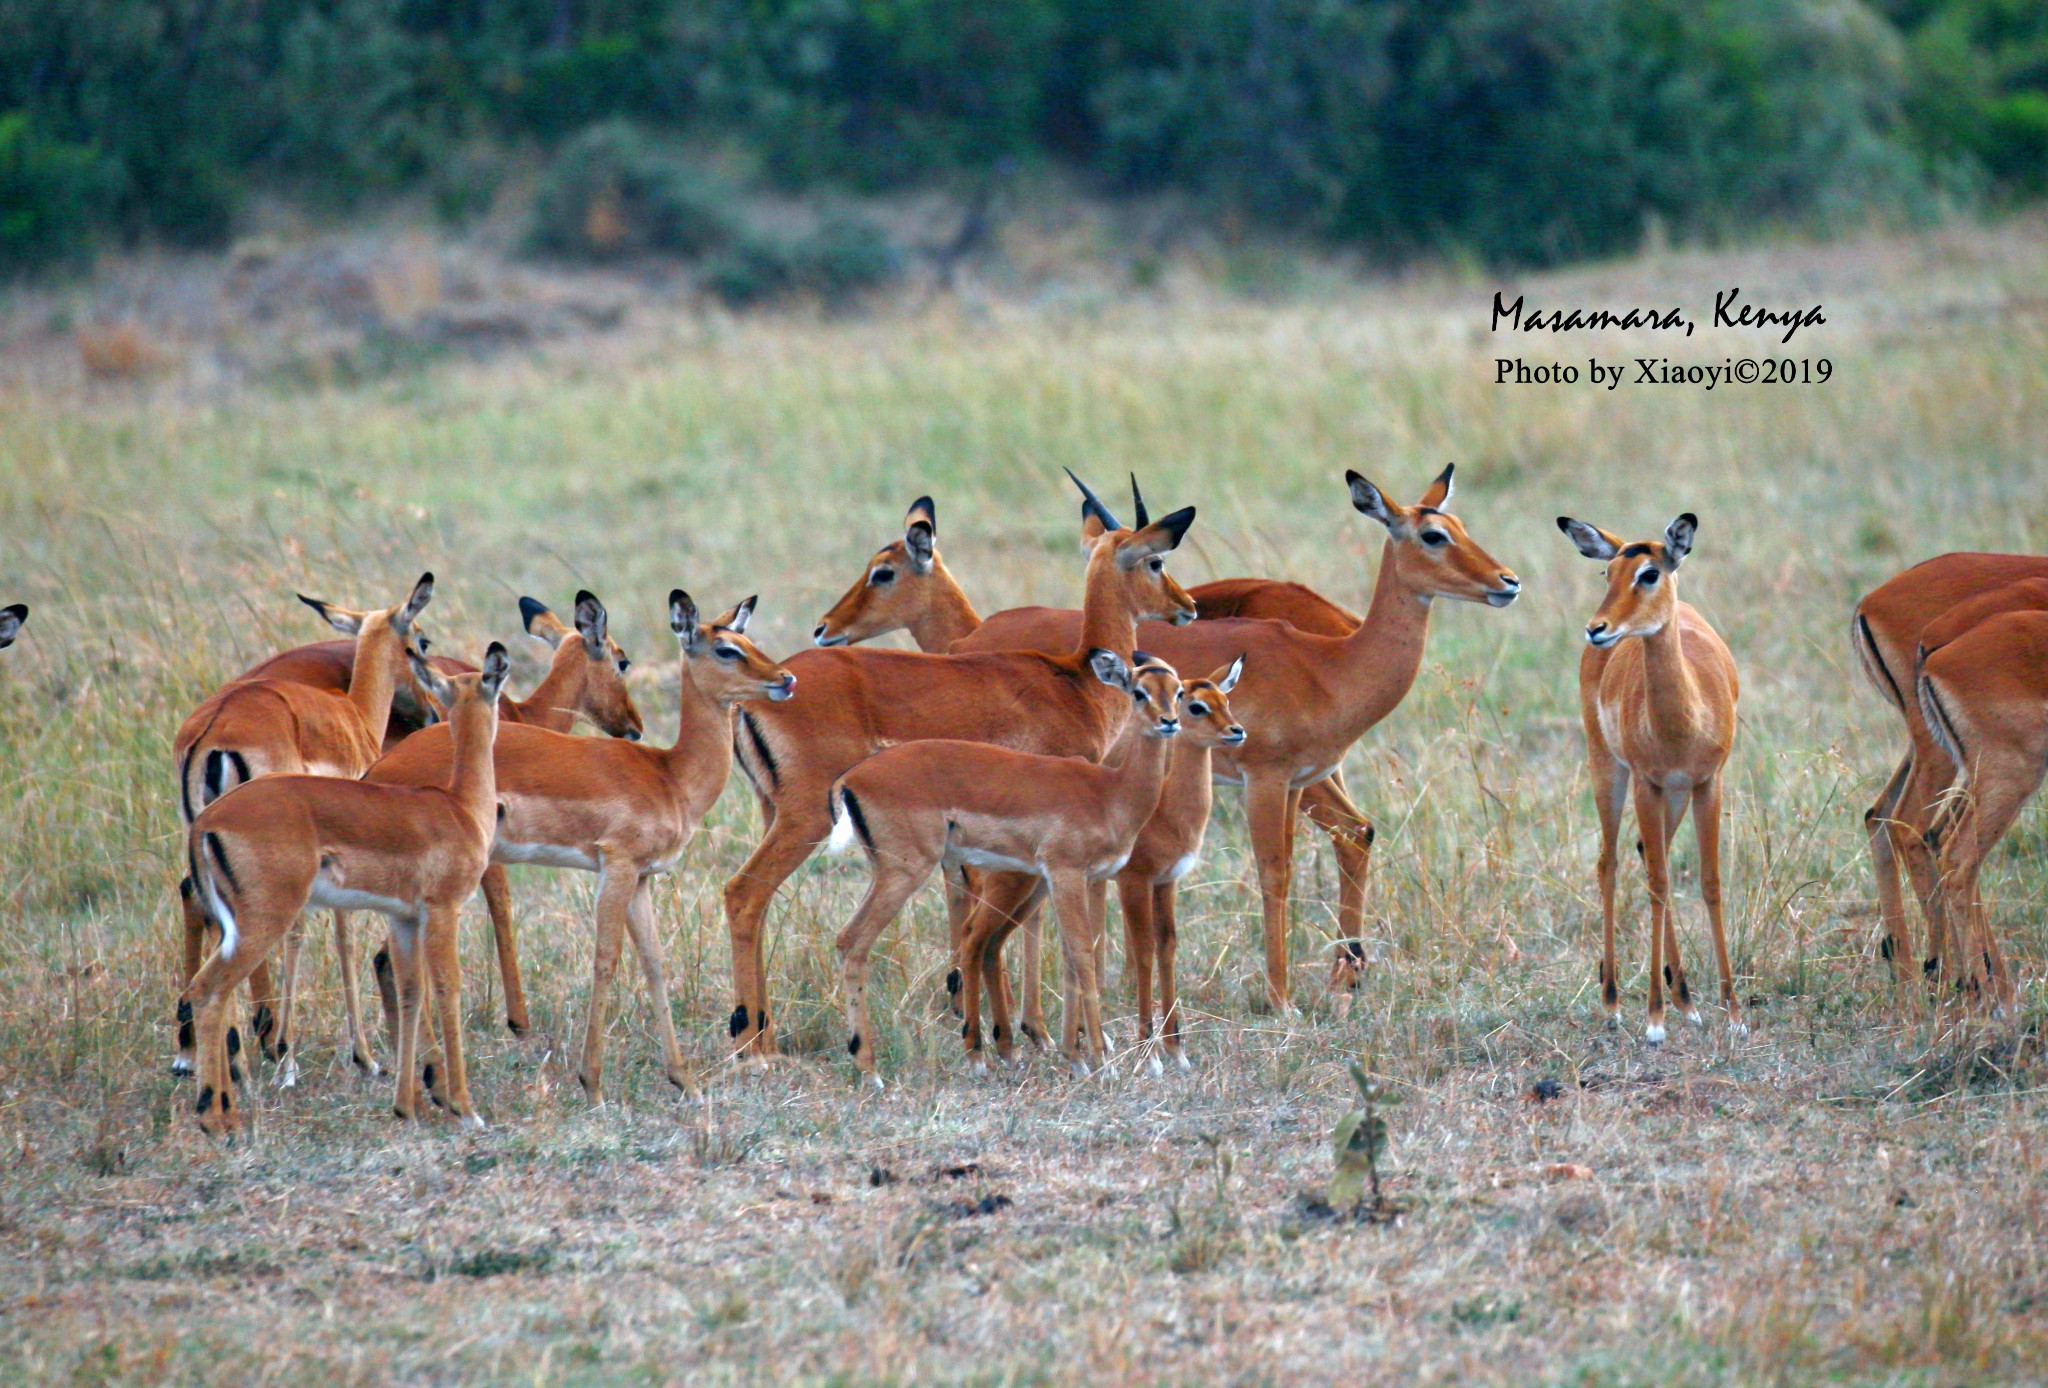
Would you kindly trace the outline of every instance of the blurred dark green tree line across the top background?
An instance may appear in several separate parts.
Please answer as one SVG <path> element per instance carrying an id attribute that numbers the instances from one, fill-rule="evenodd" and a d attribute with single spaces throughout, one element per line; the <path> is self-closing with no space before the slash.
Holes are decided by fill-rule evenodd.
<path id="1" fill-rule="evenodd" d="M 1038 160 L 1542 264 L 2040 192 L 2048 4 L 0 0 L 0 264 L 219 244 L 258 186 L 461 213 L 492 149 L 621 121 L 786 188 Z"/>

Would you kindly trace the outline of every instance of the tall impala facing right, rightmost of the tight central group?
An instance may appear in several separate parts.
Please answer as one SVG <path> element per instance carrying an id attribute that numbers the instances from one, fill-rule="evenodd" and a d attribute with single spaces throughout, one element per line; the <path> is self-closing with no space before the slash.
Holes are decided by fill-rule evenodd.
<path id="1" fill-rule="evenodd" d="M 1139 631 L 1139 645 L 1176 669 L 1217 669 L 1239 655 L 1251 669 L 1231 696 L 1249 737 L 1241 747 L 1219 747 L 1212 766 L 1217 780 L 1245 788 L 1264 907 L 1266 989 L 1278 1009 L 1288 1007 L 1288 895 L 1307 788 L 1327 780 L 1352 743 L 1407 696 L 1436 598 L 1505 608 L 1522 594 L 1522 579 L 1444 510 L 1452 469 L 1415 506 L 1386 500 L 1358 473 L 1346 473 L 1346 485 L 1352 506 L 1386 528 L 1372 606 L 1356 628 L 1321 635 L 1288 622 L 1223 618 Z M 956 649 L 1049 649 L 1071 631 L 1069 612 L 1018 608 L 991 616 Z"/>

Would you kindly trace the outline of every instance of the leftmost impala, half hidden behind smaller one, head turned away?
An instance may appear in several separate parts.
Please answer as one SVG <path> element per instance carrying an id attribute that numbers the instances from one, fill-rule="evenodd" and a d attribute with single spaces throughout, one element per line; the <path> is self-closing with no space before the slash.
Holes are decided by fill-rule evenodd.
<path id="1" fill-rule="evenodd" d="M 330 626 L 354 637 L 354 655 L 346 692 L 315 688 L 289 678 L 236 680 L 209 696 L 178 727 L 172 757 L 178 764 L 178 817 L 190 827 L 199 813 L 238 784 L 258 776 L 317 774 L 354 780 L 383 751 L 385 723 L 391 717 L 391 694 L 408 651 L 416 651 L 414 622 L 434 596 L 434 575 L 422 573 L 412 594 L 395 608 L 354 612 L 350 608 L 301 598 Z M 418 678 L 418 669 L 414 671 Z M 193 878 L 178 884 L 184 905 L 184 972 L 190 983 L 199 972 L 207 944 L 207 913 Z M 362 1044 L 362 1020 L 356 1007 L 354 950 L 346 921 L 336 921 L 336 956 L 342 966 L 342 997 L 348 1007 L 348 1038 L 356 1065 L 369 1065 Z M 250 991 L 256 997 L 256 1040 L 272 1046 L 279 999 L 272 991 L 268 960 L 258 958 Z M 274 1050 L 279 1083 L 297 1077 L 289 1038 L 279 1036 Z M 178 1056 L 172 1073 L 193 1069 L 193 1026 L 178 1020 Z"/>

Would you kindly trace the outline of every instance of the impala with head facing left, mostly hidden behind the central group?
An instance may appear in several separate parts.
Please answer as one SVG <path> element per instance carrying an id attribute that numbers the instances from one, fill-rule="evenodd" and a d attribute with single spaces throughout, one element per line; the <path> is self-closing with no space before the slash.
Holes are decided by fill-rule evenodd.
<path id="1" fill-rule="evenodd" d="M 1137 477 L 1130 479 L 1130 500 L 1137 510 L 1137 526 L 1145 528 L 1151 516 L 1145 510 Z M 954 643 L 973 637 L 981 628 L 981 616 L 946 569 L 936 540 L 938 518 L 932 497 L 918 497 L 903 518 L 903 538 L 891 540 L 868 559 L 860 579 L 825 612 L 811 639 L 817 645 L 829 647 L 868 641 L 891 631 L 909 631 L 920 651 L 948 651 Z M 1217 618 L 1274 618 L 1323 637 L 1348 637 L 1360 624 L 1354 614 L 1321 594 L 1280 579 L 1217 579 L 1190 588 L 1188 596 L 1196 604 L 1198 622 Z M 1047 608 L 1032 608 L 1030 612 L 1042 614 Z M 1044 637 L 1036 622 L 1014 626 L 1016 618 L 1012 614 L 997 614 L 995 620 L 997 633 L 1010 633 L 1008 649 L 1067 649 L 1073 641 L 1073 631 L 1065 626 L 1057 635 Z M 1071 622 L 1075 631 L 1079 628 L 1077 612 L 1063 614 L 1063 620 Z M 1155 641 L 1155 631 L 1147 626 L 1141 641 Z M 1337 934 L 1354 942 L 1356 948 L 1356 940 L 1364 931 L 1372 825 L 1352 805 L 1341 768 L 1303 788 L 1300 813 L 1329 833 L 1329 843 L 1337 860 Z M 961 878 L 954 880 L 952 872 L 946 876 L 946 915 L 954 946 L 958 946 L 967 925 L 969 901 L 977 895 L 973 884 L 965 880 L 965 868 L 961 870 Z M 1038 989 L 1040 952 L 1036 913 L 1024 921 L 1022 936 L 1024 1009 L 1020 1030 L 1030 1038 L 1038 1038 L 1044 1036 L 1044 1013 L 1040 1011 Z M 993 981 L 999 985 L 1001 977 L 995 974 Z M 1348 974 L 1346 983 L 1356 987 L 1358 974 Z M 1343 1001 L 1348 997 L 1339 997 L 1339 1005 Z"/>

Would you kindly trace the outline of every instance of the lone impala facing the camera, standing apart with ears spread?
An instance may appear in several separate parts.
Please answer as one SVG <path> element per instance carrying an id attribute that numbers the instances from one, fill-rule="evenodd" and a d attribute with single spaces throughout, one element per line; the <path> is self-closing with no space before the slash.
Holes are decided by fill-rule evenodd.
<path id="1" fill-rule="evenodd" d="M 1571 516 L 1559 516 L 1556 526 L 1581 555 L 1608 565 L 1608 596 L 1585 626 L 1579 657 L 1579 712 L 1599 807 L 1599 995 L 1608 1026 L 1620 1026 L 1622 1011 L 1614 966 L 1614 843 L 1622 831 L 1622 796 L 1634 780 L 1636 831 L 1651 878 L 1651 1020 L 1645 1036 L 1653 1046 L 1665 1038 L 1665 983 L 1686 1015 L 1700 1022 L 1671 919 L 1671 837 L 1688 807 L 1700 841 L 1700 895 L 1714 927 L 1720 1003 L 1729 1009 L 1729 1026 L 1743 1030 L 1720 917 L 1720 768 L 1735 745 L 1735 657 L 1706 618 L 1677 600 L 1677 567 L 1692 553 L 1700 522 L 1688 512 L 1665 526 L 1661 540 L 1634 545 Z"/>

